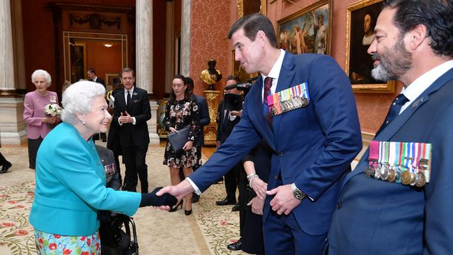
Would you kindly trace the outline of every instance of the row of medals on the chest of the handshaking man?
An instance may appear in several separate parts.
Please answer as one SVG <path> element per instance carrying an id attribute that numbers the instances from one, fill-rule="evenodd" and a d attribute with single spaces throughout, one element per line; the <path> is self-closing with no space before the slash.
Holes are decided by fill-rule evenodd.
<path id="1" fill-rule="evenodd" d="M 307 82 L 268 95 L 269 112 L 274 116 L 293 109 L 307 107 L 308 104 Z"/>

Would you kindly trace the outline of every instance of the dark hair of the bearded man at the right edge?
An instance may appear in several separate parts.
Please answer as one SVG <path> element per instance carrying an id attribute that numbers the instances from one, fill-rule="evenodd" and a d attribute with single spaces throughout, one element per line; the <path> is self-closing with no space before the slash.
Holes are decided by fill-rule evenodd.
<path id="1" fill-rule="evenodd" d="M 422 24 L 427 27 L 433 52 L 453 56 L 452 0 L 385 0 L 384 6 L 397 8 L 394 24 L 401 35 Z"/>

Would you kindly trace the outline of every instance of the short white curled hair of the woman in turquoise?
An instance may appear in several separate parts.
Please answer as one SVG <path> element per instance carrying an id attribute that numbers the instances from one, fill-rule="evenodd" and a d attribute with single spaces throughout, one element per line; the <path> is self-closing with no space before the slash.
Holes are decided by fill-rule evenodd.
<path id="1" fill-rule="evenodd" d="M 75 125 L 79 122 L 77 114 L 86 114 L 93 108 L 93 100 L 105 95 L 105 88 L 96 82 L 76 82 L 66 88 L 63 93 L 61 105 L 61 120 Z"/>

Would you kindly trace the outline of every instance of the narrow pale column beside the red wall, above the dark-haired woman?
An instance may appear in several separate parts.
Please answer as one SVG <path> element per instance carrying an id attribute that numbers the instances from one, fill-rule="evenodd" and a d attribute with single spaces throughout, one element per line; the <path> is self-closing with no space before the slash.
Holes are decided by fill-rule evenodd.
<path id="1" fill-rule="evenodd" d="M 190 6 L 191 0 L 183 0 L 181 17 L 181 75 L 190 76 Z"/>

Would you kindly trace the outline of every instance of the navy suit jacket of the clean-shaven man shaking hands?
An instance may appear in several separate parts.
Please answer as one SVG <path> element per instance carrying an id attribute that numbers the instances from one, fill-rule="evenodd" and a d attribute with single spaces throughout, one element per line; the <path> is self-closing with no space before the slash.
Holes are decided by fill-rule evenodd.
<path id="1" fill-rule="evenodd" d="M 263 117 L 259 77 L 245 98 L 240 122 L 190 178 L 206 190 L 263 138 L 275 152 L 268 190 L 276 187 L 279 173 L 284 185 L 295 183 L 314 200 L 303 199 L 293 210 L 295 219 L 305 233 L 320 235 L 329 229 L 339 187 L 362 139 L 351 84 L 334 59 L 286 52 L 276 91 L 303 82 L 308 83 L 309 105 L 273 117 L 271 130 Z M 268 197 L 263 220 L 269 211 Z"/>

